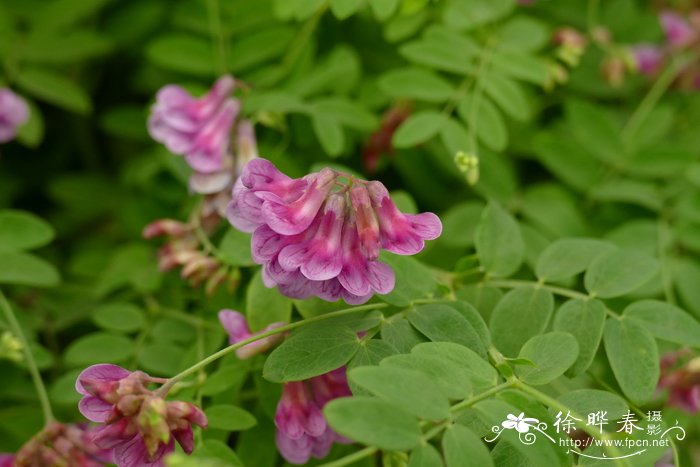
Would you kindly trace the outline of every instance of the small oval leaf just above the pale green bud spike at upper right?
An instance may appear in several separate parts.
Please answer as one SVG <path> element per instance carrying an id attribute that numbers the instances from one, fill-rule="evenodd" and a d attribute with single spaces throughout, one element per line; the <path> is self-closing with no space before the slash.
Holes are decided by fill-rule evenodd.
<path id="1" fill-rule="evenodd" d="M 508 130 L 501 112 L 483 96 L 477 100 L 466 96 L 457 107 L 460 117 L 472 127 L 479 140 L 494 151 L 502 151 L 508 145 Z"/>

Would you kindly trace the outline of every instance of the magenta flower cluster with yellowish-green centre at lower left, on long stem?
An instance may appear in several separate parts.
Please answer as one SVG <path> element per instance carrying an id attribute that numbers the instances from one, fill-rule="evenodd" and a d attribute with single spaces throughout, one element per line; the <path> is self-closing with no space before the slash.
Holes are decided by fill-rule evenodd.
<path id="1" fill-rule="evenodd" d="M 83 395 L 80 412 L 103 423 L 93 430 L 92 441 L 111 450 L 119 467 L 163 466 L 175 441 L 186 453 L 192 452 L 193 423 L 206 428 L 207 418 L 195 405 L 166 402 L 147 388 L 162 382 L 109 364 L 93 365 L 78 376 L 75 388 Z"/>

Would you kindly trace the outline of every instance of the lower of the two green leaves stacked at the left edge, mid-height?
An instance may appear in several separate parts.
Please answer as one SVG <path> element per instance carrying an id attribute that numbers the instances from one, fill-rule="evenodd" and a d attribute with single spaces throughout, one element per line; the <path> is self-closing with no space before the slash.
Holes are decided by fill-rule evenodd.
<path id="1" fill-rule="evenodd" d="M 28 253 L 0 253 L 0 284 L 53 287 L 61 280 L 58 271 L 41 258 Z"/>

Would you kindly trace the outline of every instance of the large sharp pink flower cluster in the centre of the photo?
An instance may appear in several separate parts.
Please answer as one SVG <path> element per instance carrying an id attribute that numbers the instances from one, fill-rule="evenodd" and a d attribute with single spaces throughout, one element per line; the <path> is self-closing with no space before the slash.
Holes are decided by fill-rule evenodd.
<path id="1" fill-rule="evenodd" d="M 378 261 L 382 248 L 412 255 L 442 231 L 433 213 L 400 212 L 380 182 L 330 168 L 292 179 L 261 158 L 236 181 L 228 219 L 253 233 L 266 286 L 352 305 L 394 288 L 394 272 Z"/>

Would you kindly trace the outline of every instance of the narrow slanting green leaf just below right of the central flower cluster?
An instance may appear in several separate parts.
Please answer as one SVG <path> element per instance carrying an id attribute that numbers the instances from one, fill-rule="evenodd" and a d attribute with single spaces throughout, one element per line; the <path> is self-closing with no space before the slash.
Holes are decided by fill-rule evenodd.
<path id="1" fill-rule="evenodd" d="M 434 342 L 455 342 L 486 355 L 481 338 L 471 323 L 447 305 L 421 305 L 408 312 L 408 321 Z"/>

